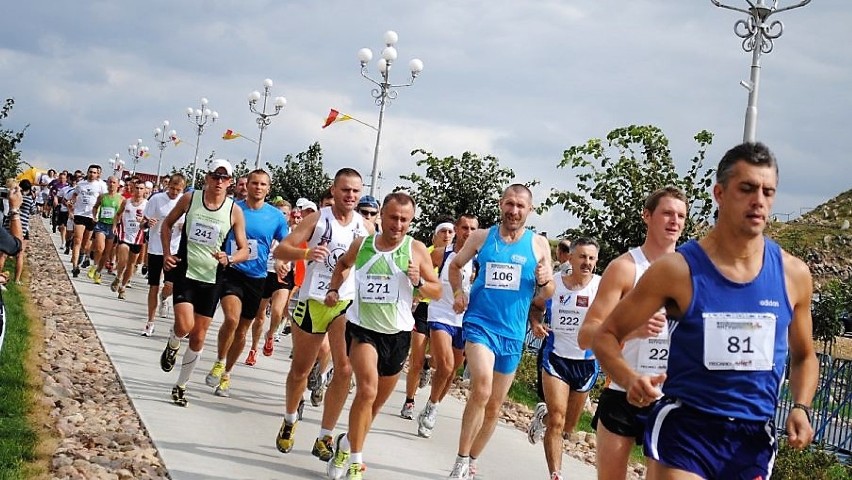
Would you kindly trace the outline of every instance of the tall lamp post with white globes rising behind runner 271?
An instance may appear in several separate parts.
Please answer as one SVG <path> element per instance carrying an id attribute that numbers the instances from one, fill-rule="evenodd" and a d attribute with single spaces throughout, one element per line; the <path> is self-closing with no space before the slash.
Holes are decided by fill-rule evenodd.
<path id="1" fill-rule="evenodd" d="M 379 169 L 379 145 L 382 139 L 382 123 L 385 117 L 385 106 L 395 100 L 397 97 L 396 88 L 409 87 L 414 84 L 414 79 L 423 71 L 423 62 L 420 59 L 413 59 L 408 62 L 408 69 L 411 71 L 411 79 L 408 83 L 394 85 L 390 83 L 388 76 L 390 75 L 391 66 L 396 61 L 397 51 L 396 45 L 399 40 L 399 35 L 393 30 L 388 30 L 384 35 L 385 48 L 382 49 L 381 58 L 379 58 L 377 67 L 379 70 L 379 79 L 373 79 L 367 71 L 367 63 L 373 59 L 373 51 L 369 48 L 358 50 L 358 60 L 361 62 L 361 76 L 376 85 L 371 92 L 376 100 L 376 105 L 379 106 L 379 123 L 376 127 L 376 147 L 373 149 L 373 169 L 370 172 L 370 195 L 375 196 L 376 179 L 378 178 Z"/>

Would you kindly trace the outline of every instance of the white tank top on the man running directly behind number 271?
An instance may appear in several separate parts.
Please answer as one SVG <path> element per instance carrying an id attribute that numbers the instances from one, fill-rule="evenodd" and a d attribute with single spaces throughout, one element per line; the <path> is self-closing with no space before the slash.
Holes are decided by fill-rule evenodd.
<path id="1" fill-rule="evenodd" d="M 305 268 L 305 281 L 299 289 L 299 300 L 307 301 L 309 298 L 320 302 L 325 300 L 328 283 L 331 281 L 331 273 L 337 265 L 337 259 L 349 250 L 352 240 L 366 236 L 367 227 L 364 226 L 364 218 L 358 212 L 352 212 L 352 220 L 349 224 L 341 225 L 331 213 L 331 207 L 321 208 L 314 233 L 308 240 L 308 248 L 323 244 L 331 253 L 322 262 L 308 262 Z M 337 295 L 341 300 L 355 298 L 355 275 L 349 275 L 343 281 Z"/>

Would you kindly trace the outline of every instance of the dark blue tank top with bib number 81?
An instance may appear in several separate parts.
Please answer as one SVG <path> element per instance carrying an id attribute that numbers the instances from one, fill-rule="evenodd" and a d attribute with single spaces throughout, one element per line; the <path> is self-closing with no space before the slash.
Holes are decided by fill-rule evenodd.
<path id="1" fill-rule="evenodd" d="M 671 329 L 666 396 L 724 417 L 775 414 L 793 309 L 781 248 L 764 242 L 763 266 L 748 283 L 725 278 L 694 240 L 677 249 L 689 265 L 692 301 Z"/>

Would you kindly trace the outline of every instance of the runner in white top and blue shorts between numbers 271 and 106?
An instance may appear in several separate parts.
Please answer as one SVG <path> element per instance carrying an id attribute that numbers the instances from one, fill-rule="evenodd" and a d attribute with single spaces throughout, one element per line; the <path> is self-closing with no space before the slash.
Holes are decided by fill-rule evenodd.
<path id="1" fill-rule="evenodd" d="M 440 227 L 440 226 L 439 226 Z M 453 384 L 453 376 L 464 360 L 464 339 L 462 338 L 463 313 L 453 310 L 453 289 L 449 281 L 449 264 L 456 254 L 461 251 L 470 234 L 479 228 L 479 220 L 474 215 L 461 215 L 455 222 L 455 240 L 445 248 L 435 248 L 432 252 L 432 263 L 438 268 L 438 276 L 443 285 L 441 298 L 429 303 L 428 327 L 429 343 L 432 351 L 432 387 L 429 400 L 417 417 L 417 434 L 424 438 L 432 436 L 435 422 L 438 419 L 438 405 Z M 469 260 L 462 267 L 461 289 L 470 294 L 470 283 L 474 276 L 474 260 Z"/>

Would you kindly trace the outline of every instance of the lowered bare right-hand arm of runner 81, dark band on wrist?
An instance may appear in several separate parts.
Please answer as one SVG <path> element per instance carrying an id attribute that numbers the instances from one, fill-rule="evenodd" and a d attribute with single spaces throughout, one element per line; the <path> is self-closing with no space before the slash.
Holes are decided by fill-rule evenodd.
<path id="1" fill-rule="evenodd" d="M 793 402 L 810 407 L 819 379 L 819 362 L 814 353 L 812 339 L 811 297 L 813 279 L 807 265 L 785 252 L 784 273 L 787 291 L 793 304 L 793 320 L 790 323 L 788 342 L 790 348 L 790 392 Z M 787 441 L 796 449 L 807 447 L 814 437 L 814 430 L 807 413 L 799 408 L 790 410 L 787 416 Z"/>

